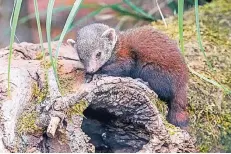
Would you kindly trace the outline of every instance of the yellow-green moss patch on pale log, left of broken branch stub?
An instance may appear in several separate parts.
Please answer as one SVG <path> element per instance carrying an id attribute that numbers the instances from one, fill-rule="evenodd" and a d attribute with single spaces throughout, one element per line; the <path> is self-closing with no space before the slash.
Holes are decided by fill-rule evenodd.
<path id="1" fill-rule="evenodd" d="M 18 119 L 17 132 L 19 134 L 34 134 L 41 132 L 42 129 L 35 124 L 37 116 L 38 115 L 35 111 L 32 111 L 31 113 L 23 113 Z"/>

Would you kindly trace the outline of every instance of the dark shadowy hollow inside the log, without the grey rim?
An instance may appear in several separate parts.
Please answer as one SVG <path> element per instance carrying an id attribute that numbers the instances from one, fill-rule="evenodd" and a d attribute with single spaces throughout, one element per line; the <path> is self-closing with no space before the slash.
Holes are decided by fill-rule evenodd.
<path id="1" fill-rule="evenodd" d="M 96 105 L 88 106 L 83 114 L 86 118 L 81 128 L 91 138 L 90 142 L 97 153 L 138 152 L 150 139 L 144 125 L 127 120 L 131 114 L 116 116 Z"/>

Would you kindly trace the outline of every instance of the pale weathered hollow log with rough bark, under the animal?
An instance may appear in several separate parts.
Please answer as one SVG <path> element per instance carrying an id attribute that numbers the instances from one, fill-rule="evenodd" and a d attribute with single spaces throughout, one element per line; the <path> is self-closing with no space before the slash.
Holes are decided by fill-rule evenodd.
<path id="1" fill-rule="evenodd" d="M 56 43 L 52 46 L 55 49 Z M 83 84 L 83 72 L 76 74 L 82 68 L 78 56 L 70 46 L 62 45 L 59 75 L 75 79 L 68 85 L 70 93 L 61 96 L 53 70 L 48 68 L 46 76 L 42 60 L 36 60 L 40 50 L 35 44 L 14 45 L 11 99 L 7 97 L 9 50 L 0 50 L 1 152 L 195 151 L 189 134 L 170 127 L 158 111 L 157 96 L 146 83 L 94 76 L 92 82 Z M 39 94 L 48 84 L 42 101 L 34 94 L 34 84 Z M 73 114 L 71 110 L 83 102 L 84 117 Z"/>

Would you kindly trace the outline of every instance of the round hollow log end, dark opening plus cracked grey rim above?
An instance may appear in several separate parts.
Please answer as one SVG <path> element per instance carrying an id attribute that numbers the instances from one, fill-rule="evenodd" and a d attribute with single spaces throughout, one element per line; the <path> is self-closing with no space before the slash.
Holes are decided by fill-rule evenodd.
<path id="1" fill-rule="evenodd" d="M 96 152 L 140 151 L 149 142 L 153 118 L 159 114 L 148 97 L 154 93 L 132 79 L 105 77 L 95 85 L 81 128 Z"/>

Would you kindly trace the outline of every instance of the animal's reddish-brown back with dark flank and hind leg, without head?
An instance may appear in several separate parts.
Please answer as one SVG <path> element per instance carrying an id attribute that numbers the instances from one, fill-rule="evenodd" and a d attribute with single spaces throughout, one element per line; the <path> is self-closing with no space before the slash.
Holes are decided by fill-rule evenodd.
<path id="1" fill-rule="evenodd" d="M 132 56 L 131 76 L 148 82 L 159 98 L 168 102 L 172 124 L 186 127 L 187 67 L 176 42 L 151 26 L 121 33 L 119 42 L 118 56 Z"/>

